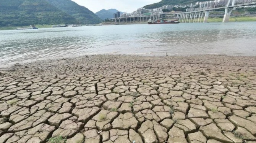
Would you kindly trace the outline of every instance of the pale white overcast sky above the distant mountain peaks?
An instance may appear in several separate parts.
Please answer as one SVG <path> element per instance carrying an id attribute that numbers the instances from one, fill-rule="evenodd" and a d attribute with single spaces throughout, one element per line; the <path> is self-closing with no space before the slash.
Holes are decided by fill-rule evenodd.
<path id="1" fill-rule="evenodd" d="M 78 5 L 82 5 L 96 13 L 102 9 L 109 10 L 115 8 L 122 12 L 131 13 L 138 8 L 161 0 L 72 0 Z"/>

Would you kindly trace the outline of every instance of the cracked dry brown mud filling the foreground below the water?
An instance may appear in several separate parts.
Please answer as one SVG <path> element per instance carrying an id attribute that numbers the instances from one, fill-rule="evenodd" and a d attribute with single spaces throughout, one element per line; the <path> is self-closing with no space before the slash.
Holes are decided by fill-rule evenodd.
<path id="1" fill-rule="evenodd" d="M 0 70 L 0 143 L 256 143 L 255 135 L 255 57 L 98 55 Z"/>

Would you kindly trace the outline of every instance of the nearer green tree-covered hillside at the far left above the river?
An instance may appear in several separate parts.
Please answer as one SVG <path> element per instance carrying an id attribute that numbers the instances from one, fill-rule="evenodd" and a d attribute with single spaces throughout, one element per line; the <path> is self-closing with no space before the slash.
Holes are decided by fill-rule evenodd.
<path id="1" fill-rule="evenodd" d="M 0 0 L 0 26 L 77 22 L 75 18 L 44 0 Z"/>

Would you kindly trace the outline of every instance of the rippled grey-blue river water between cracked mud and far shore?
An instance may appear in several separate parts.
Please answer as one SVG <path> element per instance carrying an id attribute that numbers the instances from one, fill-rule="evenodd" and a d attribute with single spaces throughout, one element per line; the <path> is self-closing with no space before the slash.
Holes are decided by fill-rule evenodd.
<path id="1" fill-rule="evenodd" d="M 0 67 L 92 54 L 256 56 L 256 22 L 103 25 L 0 31 Z"/>

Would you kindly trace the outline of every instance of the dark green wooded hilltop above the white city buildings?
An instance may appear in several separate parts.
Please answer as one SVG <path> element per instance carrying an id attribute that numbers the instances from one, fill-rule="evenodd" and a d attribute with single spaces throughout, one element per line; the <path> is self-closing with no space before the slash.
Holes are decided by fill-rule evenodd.
<path id="1" fill-rule="evenodd" d="M 153 3 L 151 5 L 146 5 L 144 8 L 146 9 L 153 9 L 153 8 L 159 8 L 164 5 L 187 5 L 190 3 L 196 3 L 196 2 L 206 2 L 209 0 L 161 0 L 158 3 Z"/>

